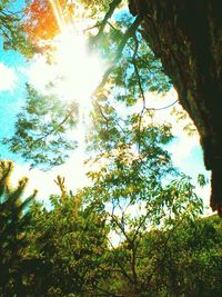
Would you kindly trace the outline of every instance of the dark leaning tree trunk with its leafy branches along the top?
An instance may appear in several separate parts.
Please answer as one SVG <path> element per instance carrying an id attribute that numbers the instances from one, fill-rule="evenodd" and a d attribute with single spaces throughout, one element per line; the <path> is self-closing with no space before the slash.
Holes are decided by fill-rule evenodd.
<path id="1" fill-rule="evenodd" d="M 61 19 L 65 22 L 65 13 L 70 6 L 65 1 L 60 2 Z M 219 2 L 204 0 L 199 6 L 199 1 L 180 3 L 168 1 L 164 4 L 159 3 L 159 1 L 130 0 L 130 12 L 135 18 L 130 17 L 125 10 L 118 13 L 121 4 L 125 3 L 121 0 L 82 1 L 82 3 L 85 8 L 84 16 L 90 14 L 94 19 L 92 28 L 98 28 L 95 36 L 90 34 L 90 28 L 85 29 L 92 40 L 91 48 L 100 49 L 101 55 L 108 58 L 110 65 L 98 90 L 104 86 L 105 81 L 111 83 L 111 87 L 113 85 L 124 87 L 129 92 L 122 96 L 120 91 L 122 100 L 132 103 L 140 97 L 143 98 L 145 107 L 145 90 L 167 90 L 159 83 L 161 76 L 165 81 L 165 77 L 159 71 L 161 66 L 157 57 L 161 59 L 164 71 L 179 92 L 180 102 L 189 112 L 200 132 L 205 166 L 206 169 L 212 169 L 211 206 L 213 210 L 218 209 L 220 214 L 222 125 L 220 109 L 218 108 L 218 101 L 221 97 Z M 71 10 L 73 9 L 75 14 L 78 4 L 80 3 L 77 2 L 73 7 L 71 6 Z M 34 30 L 38 31 L 42 28 L 42 23 L 47 22 L 48 17 L 54 18 L 52 9 L 47 10 L 49 2 L 36 0 L 33 6 L 28 7 L 28 28 L 29 24 L 32 24 L 32 20 L 36 20 L 33 22 L 36 24 Z M 97 10 L 103 12 L 102 20 L 97 16 Z M 196 14 L 200 14 L 198 22 Z M 54 23 L 54 20 L 52 23 Z M 175 28 L 175 30 L 172 30 L 172 28 Z M 30 32 L 32 29 L 30 29 Z M 41 32 L 43 33 L 43 31 Z M 46 31 L 46 34 L 48 33 Z M 145 47 L 147 51 L 144 53 Z M 148 48 L 152 59 L 148 55 Z M 150 63 L 153 59 L 155 62 Z M 150 81 L 155 78 L 157 82 L 150 86 Z M 205 81 L 209 83 L 205 83 Z M 134 96 L 130 96 L 132 93 Z M 200 105 L 199 102 L 203 103 Z"/>

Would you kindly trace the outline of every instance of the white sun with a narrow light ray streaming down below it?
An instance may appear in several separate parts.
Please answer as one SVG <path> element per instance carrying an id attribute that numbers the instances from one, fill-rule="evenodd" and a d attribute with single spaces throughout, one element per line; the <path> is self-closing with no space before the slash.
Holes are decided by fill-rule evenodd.
<path id="1" fill-rule="evenodd" d="M 67 26 L 56 37 L 54 44 L 54 73 L 58 76 L 53 83 L 54 92 L 60 100 L 78 103 L 79 119 L 73 132 L 79 143 L 79 154 L 82 154 L 90 125 L 91 97 L 102 77 L 101 61 L 89 52 L 85 37 L 73 27 Z"/>

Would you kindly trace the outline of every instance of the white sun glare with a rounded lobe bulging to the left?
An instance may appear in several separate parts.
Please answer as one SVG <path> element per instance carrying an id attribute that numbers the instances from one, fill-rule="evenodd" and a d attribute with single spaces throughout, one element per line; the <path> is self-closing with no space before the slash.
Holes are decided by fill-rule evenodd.
<path id="1" fill-rule="evenodd" d="M 42 93 L 75 101 L 80 108 L 89 107 L 90 97 L 102 77 L 99 58 L 88 51 L 83 34 L 70 27 L 51 43 L 54 48 L 50 53 L 52 62 L 49 63 L 46 56 L 37 55 L 28 70 L 30 83 Z"/>

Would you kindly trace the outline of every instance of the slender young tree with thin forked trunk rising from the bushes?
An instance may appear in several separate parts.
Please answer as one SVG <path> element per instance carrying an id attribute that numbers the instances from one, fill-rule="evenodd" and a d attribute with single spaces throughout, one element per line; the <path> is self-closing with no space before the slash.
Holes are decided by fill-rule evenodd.
<path id="1" fill-rule="evenodd" d="M 109 110 L 107 107 L 103 112 Z M 103 209 L 111 228 L 107 271 L 113 281 L 103 281 L 102 288 L 113 296 L 157 296 L 154 289 L 153 295 L 145 295 L 152 275 L 158 275 L 152 266 L 155 256 L 150 259 L 151 250 L 141 253 L 145 231 L 173 232 L 180 221 L 195 219 L 202 202 L 190 179 L 172 167 L 164 150 L 172 139 L 169 126 L 148 123 L 150 117 L 140 121 L 140 116 L 133 115 L 121 122 L 121 129 L 113 110 L 110 120 L 105 121 L 105 115 L 95 117 L 103 125 L 93 130 L 94 146 L 97 135 L 101 142 L 100 154 L 90 159 L 95 168 L 88 174 L 92 186 L 81 190 L 85 201 L 94 201 Z M 168 248 L 165 245 L 161 245 L 161 253 Z"/>

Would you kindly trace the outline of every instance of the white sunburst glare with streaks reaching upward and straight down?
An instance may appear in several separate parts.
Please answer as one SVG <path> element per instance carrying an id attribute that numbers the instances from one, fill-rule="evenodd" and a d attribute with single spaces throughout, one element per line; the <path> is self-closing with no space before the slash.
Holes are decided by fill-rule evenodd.
<path id="1" fill-rule="evenodd" d="M 38 40 L 40 48 L 43 46 L 46 51 L 34 56 L 29 70 L 30 83 L 43 95 L 78 103 L 78 123 L 68 135 L 78 141 L 78 148 L 70 156 L 70 160 L 73 160 L 73 157 L 77 159 L 78 172 L 81 176 L 84 171 L 91 95 L 102 78 L 103 65 L 97 55 L 89 51 L 83 30 L 89 27 L 89 19 L 75 19 L 74 14 L 67 18 L 65 8 L 62 8 L 58 0 L 50 0 L 50 4 L 59 33 L 54 36 L 51 32 L 49 39 Z M 75 6 L 75 13 L 77 9 L 83 13 L 81 6 Z"/>

